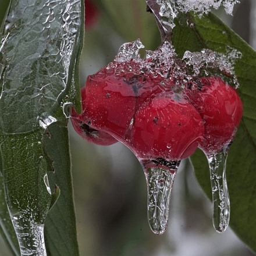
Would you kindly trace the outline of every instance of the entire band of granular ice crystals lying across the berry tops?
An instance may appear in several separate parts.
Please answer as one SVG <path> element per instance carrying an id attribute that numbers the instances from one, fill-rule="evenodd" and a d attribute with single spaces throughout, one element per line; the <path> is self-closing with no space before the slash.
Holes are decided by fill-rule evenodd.
<path id="1" fill-rule="evenodd" d="M 165 41 L 155 51 L 146 51 L 145 59 L 138 53 L 144 45 L 140 40 L 123 44 L 113 62 L 106 67 L 108 72 L 116 76 L 123 73 L 134 74 L 147 79 L 154 77 L 163 86 L 183 87 L 197 77 L 217 75 L 227 83 L 238 87 L 234 64 L 241 58 L 241 53 L 227 47 L 226 53 L 202 49 L 201 52 L 186 51 L 182 59 L 177 58 L 175 49 Z"/>

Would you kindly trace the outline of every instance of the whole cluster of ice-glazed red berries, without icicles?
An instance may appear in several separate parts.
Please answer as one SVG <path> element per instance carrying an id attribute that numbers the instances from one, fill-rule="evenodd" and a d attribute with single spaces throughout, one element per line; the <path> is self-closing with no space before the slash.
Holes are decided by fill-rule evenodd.
<path id="1" fill-rule="evenodd" d="M 74 129 L 99 145 L 121 141 L 140 160 L 180 161 L 197 147 L 215 154 L 234 138 L 243 112 L 237 91 L 216 76 L 182 81 L 115 63 L 88 76 Z"/>

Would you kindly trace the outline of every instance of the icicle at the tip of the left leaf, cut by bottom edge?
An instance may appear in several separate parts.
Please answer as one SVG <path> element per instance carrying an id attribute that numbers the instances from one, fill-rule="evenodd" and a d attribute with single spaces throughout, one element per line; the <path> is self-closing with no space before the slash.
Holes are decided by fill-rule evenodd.
<path id="1" fill-rule="evenodd" d="M 31 222 L 23 215 L 11 215 L 11 219 L 19 241 L 21 256 L 47 256 L 44 243 L 44 225 Z"/>

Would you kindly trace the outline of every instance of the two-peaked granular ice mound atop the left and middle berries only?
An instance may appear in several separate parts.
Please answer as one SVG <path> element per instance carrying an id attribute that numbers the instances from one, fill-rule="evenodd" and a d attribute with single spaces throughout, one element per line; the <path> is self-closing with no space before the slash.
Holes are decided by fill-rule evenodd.
<path id="1" fill-rule="evenodd" d="M 164 41 L 155 51 L 146 51 L 145 59 L 141 59 L 138 54 L 138 50 L 143 47 L 140 40 L 120 47 L 114 61 L 106 66 L 108 73 L 113 72 L 115 76 L 123 76 L 123 73 L 129 73 L 129 76 L 132 74 L 150 76 L 159 79 L 163 85 L 166 83 L 177 87 L 193 79 L 187 73 L 186 65 L 177 58 L 175 49 L 170 42 Z M 123 52 L 124 49 L 126 53 Z"/>

